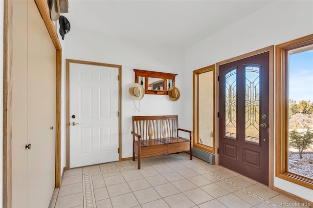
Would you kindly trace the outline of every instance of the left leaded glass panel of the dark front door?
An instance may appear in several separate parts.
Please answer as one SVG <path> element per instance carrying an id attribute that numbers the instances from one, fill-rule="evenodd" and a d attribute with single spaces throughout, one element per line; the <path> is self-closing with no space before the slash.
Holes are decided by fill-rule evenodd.
<path id="1" fill-rule="evenodd" d="M 225 74 L 225 132 L 226 137 L 236 138 L 237 69 Z"/>

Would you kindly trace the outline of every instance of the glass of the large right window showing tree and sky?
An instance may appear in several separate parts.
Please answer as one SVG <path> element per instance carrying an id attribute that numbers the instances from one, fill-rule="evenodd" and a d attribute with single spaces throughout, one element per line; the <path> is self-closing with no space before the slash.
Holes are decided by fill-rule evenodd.
<path id="1" fill-rule="evenodd" d="M 313 45 L 288 55 L 288 171 L 313 179 Z"/>

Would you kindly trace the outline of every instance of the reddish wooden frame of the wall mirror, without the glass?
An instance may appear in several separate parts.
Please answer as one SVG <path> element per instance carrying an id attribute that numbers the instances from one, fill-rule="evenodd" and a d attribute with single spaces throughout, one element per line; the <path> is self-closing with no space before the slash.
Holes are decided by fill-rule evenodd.
<path id="1" fill-rule="evenodd" d="M 167 81 L 172 80 L 172 87 L 175 87 L 175 77 L 177 74 L 165 73 L 165 72 L 156 72 L 156 71 L 146 71 L 140 69 L 134 69 L 135 72 L 135 83 L 138 83 L 139 77 L 145 78 L 144 89 L 145 94 L 152 94 L 152 95 L 168 95 L 167 90 Z M 163 90 L 149 90 L 149 78 L 158 78 L 163 79 Z"/>

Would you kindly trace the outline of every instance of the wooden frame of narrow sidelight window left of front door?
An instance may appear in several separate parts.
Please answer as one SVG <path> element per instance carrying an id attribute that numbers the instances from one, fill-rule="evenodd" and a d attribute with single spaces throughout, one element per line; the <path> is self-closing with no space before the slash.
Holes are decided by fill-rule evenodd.
<path id="1" fill-rule="evenodd" d="M 213 145 L 212 146 L 206 146 L 201 143 L 199 143 L 199 75 L 205 72 L 213 72 L 213 88 L 212 88 L 212 94 L 213 94 L 213 100 L 212 100 L 212 115 L 213 115 Z M 201 150 L 204 150 L 206 152 L 215 154 L 215 122 L 216 122 L 216 113 L 215 113 L 215 64 L 209 65 L 197 70 L 193 71 L 193 147 L 199 148 Z"/>

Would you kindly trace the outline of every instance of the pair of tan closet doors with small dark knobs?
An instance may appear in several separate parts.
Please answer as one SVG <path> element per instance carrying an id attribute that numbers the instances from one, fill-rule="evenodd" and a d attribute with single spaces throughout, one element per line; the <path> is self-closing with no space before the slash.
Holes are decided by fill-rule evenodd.
<path id="1" fill-rule="evenodd" d="M 55 186 L 56 50 L 33 0 L 13 1 L 13 40 L 12 207 L 44 208 Z"/>

